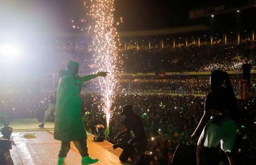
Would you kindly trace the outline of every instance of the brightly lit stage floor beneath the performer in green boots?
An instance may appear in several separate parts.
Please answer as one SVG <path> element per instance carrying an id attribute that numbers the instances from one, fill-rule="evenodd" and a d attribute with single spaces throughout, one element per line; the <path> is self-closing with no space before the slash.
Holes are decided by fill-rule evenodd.
<path id="1" fill-rule="evenodd" d="M 14 141 L 11 150 L 11 156 L 16 165 L 22 164 L 57 164 L 58 153 L 61 147 L 61 142 L 53 138 L 53 123 L 46 124 L 46 129 L 38 129 L 38 122 L 27 120 L 26 122 L 12 122 L 10 125 L 14 127 L 12 140 Z M 25 133 L 35 133 L 35 138 L 25 138 Z M 98 158 L 100 161 L 95 164 L 128 164 L 121 163 L 118 156 L 121 154 L 121 149 L 113 150 L 112 144 L 109 142 L 94 142 L 93 135 L 88 133 L 88 152 L 93 158 Z M 65 159 L 66 165 L 81 164 L 81 156 L 79 151 L 71 143 L 71 148 Z"/>

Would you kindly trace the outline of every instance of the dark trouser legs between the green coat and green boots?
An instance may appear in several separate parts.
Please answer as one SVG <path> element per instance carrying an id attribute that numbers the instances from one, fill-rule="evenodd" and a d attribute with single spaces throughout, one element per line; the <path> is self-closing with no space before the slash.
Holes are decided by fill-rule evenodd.
<path id="1" fill-rule="evenodd" d="M 79 150 L 82 157 L 88 156 L 86 139 L 74 141 L 75 148 Z M 59 151 L 59 158 L 65 158 L 70 150 L 70 142 L 61 142 L 61 150 Z"/>

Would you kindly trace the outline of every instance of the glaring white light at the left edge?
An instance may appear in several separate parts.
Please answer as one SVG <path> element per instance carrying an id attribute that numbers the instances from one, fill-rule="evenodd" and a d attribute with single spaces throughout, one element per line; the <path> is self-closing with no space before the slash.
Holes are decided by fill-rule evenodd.
<path id="1" fill-rule="evenodd" d="M 14 46 L 12 44 L 2 44 L 0 46 L 0 55 L 2 56 L 19 56 L 21 50 L 19 46 Z"/>

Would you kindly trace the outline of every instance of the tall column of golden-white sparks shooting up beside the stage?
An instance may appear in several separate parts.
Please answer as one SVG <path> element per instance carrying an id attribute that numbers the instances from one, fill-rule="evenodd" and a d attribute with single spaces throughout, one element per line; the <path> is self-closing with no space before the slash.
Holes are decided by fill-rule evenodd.
<path id="1" fill-rule="evenodd" d="M 109 72 L 105 78 L 100 78 L 99 81 L 101 108 L 105 112 L 106 123 L 109 126 L 119 75 L 117 69 L 119 38 L 114 27 L 114 0 L 91 0 L 90 3 L 89 15 L 92 17 L 93 25 L 88 30 L 92 34 L 90 49 L 95 59 L 95 64 L 92 67 L 96 72 Z"/>

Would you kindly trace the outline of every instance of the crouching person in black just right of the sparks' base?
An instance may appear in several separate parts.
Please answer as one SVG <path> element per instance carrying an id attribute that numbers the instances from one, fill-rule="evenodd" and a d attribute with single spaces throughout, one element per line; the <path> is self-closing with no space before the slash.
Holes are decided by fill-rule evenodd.
<path id="1" fill-rule="evenodd" d="M 122 153 L 119 156 L 121 162 L 132 159 L 134 164 L 143 164 L 144 153 L 147 147 L 147 136 L 142 118 L 135 114 L 132 104 L 126 104 L 122 108 L 125 130 L 119 134 L 126 134 L 127 142 L 122 145 Z"/>

